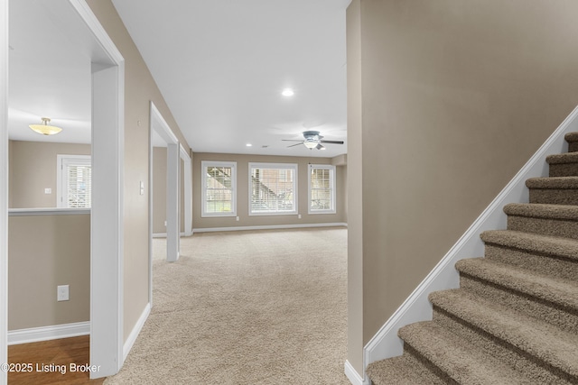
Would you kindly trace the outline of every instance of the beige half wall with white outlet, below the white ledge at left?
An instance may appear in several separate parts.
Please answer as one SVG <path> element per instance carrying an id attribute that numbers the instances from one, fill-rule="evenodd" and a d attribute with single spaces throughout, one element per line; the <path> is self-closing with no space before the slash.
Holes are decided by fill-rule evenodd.
<path id="1" fill-rule="evenodd" d="M 70 300 L 56 301 L 56 287 Z M 10 216 L 8 330 L 90 319 L 90 215 Z"/>

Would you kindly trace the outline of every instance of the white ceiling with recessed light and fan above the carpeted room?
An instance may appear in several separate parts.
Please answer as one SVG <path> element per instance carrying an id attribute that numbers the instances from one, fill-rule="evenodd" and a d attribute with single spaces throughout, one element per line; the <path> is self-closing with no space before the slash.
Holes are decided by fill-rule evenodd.
<path id="1" fill-rule="evenodd" d="M 316 130 L 346 141 L 350 0 L 112 2 L 193 151 L 347 152 L 347 143 L 318 151 L 282 139 Z M 281 96 L 285 87 L 295 95 Z"/>

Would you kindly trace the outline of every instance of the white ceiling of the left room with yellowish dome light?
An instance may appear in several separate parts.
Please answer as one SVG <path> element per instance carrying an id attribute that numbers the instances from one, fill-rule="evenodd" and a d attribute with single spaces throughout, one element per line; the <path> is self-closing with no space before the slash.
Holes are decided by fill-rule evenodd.
<path id="1" fill-rule="evenodd" d="M 90 142 L 90 60 L 92 47 L 71 35 L 62 1 L 10 1 L 8 133 L 12 140 Z M 70 11 L 69 11 L 70 12 Z M 41 117 L 63 131 L 43 136 L 29 124 Z"/>

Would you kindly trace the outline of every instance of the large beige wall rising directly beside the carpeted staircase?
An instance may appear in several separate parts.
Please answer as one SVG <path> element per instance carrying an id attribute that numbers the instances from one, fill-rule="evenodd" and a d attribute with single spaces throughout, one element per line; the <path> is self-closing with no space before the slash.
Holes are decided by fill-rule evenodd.
<path id="1" fill-rule="evenodd" d="M 578 2 L 351 6 L 359 38 L 348 50 L 360 65 L 348 62 L 350 107 L 361 106 L 348 142 L 361 144 L 349 175 L 362 213 L 350 207 L 350 261 L 363 267 L 353 286 L 363 288 L 365 344 L 578 105 Z M 359 330 L 350 338 L 359 362 Z"/>

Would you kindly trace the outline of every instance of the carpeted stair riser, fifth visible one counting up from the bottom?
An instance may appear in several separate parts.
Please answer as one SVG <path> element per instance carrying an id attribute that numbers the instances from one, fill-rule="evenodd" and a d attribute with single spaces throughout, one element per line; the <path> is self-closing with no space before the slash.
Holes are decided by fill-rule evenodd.
<path id="1" fill-rule="evenodd" d="M 566 219 L 508 215 L 508 230 L 578 239 L 578 222 Z"/>

